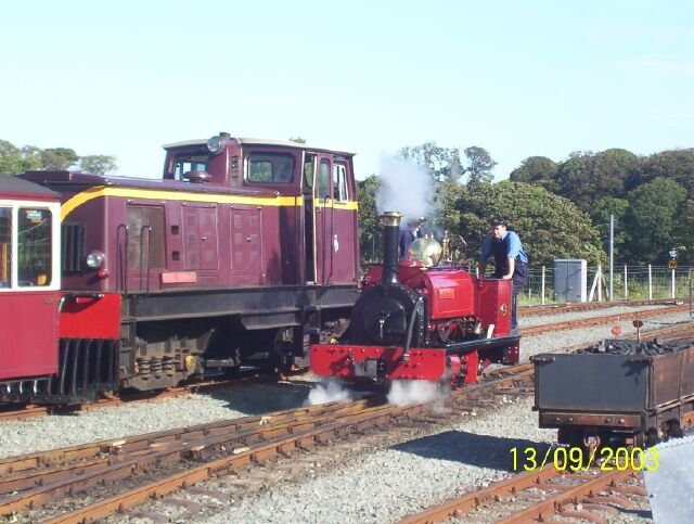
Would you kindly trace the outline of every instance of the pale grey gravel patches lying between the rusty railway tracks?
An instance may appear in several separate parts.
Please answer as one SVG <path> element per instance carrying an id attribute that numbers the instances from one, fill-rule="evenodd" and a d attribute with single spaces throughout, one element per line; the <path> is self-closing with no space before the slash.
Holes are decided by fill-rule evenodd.
<path id="1" fill-rule="evenodd" d="M 599 315 L 621 312 L 615 309 L 605 309 Z M 653 309 L 653 306 L 621 309 L 628 312 Z M 520 318 L 520 328 L 594 316 L 595 311 L 580 311 L 525 317 Z M 648 319 L 643 330 L 690 320 L 689 314 Z M 635 333 L 630 320 L 618 325 L 621 336 Z M 522 360 L 560 347 L 614 338 L 612 328 L 613 324 L 608 324 L 526 337 L 522 342 Z M 300 406 L 314 386 L 310 378 L 301 378 L 279 384 L 249 384 L 223 393 L 0 422 L 0 458 L 287 409 Z M 531 411 L 531 406 L 532 398 L 510 398 L 477 417 L 467 416 L 407 443 L 362 452 L 339 467 L 316 469 L 314 474 L 300 481 L 281 482 L 231 504 L 201 501 L 204 510 L 196 515 L 185 515 L 184 520 L 196 523 L 394 522 L 507 476 L 513 447 L 547 446 L 555 442 L 554 431 L 537 427 L 537 413 Z"/>

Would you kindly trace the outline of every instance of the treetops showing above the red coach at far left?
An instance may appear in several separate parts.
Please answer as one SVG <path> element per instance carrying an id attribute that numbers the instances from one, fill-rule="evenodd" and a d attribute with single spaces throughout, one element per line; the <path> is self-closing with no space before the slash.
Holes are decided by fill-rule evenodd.
<path id="1" fill-rule="evenodd" d="M 78 169 L 80 171 L 107 175 L 118 168 L 115 156 L 79 156 L 69 148 L 40 149 L 35 145 L 18 148 L 0 140 L 0 172 L 17 175 L 31 170 Z"/>

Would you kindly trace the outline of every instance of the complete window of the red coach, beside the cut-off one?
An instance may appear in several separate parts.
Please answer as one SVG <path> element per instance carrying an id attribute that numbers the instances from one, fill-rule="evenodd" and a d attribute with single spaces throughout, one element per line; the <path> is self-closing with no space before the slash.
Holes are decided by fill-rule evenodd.
<path id="1" fill-rule="evenodd" d="M 20 207 L 17 215 L 17 283 L 50 285 L 53 217 L 48 209 Z"/>

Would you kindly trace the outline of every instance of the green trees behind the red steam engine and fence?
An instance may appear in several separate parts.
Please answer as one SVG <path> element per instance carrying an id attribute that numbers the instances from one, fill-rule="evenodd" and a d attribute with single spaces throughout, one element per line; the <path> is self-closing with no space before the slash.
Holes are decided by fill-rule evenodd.
<path id="1" fill-rule="evenodd" d="M 497 183 L 489 152 L 474 146 L 463 153 L 466 162 L 460 150 L 427 142 L 403 148 L 399 156 L 426 169 L 435 188 L 433 229 L 462 235 L 471 260 L 489 218 L 503 216 L 519 233 L 531 266 L 551 266 L 557 258 L 605 264 L 613 216 L 616 264 L 667 264 L 673 247 L 680 264 L 694 264 L 694 149 L 650 156 L 622 149 L 576 152 L 558 163 L 529 156 Z M 369 261 L 380 235 L 381 180 L 372 175 L 358 184 L 361 250 Z"/>

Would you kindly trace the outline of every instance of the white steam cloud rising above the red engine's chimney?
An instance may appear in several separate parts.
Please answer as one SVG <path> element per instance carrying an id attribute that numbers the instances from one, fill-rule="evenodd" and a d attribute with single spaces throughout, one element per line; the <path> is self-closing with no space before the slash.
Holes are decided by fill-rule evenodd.
<path id="1" fill-rule="evenodd" d="M 400 212 L 403 220 L 432 216 L 434 183 L 425 168 L 412 161 L 383 155 L 380 170 L 378 213 Z"/>

